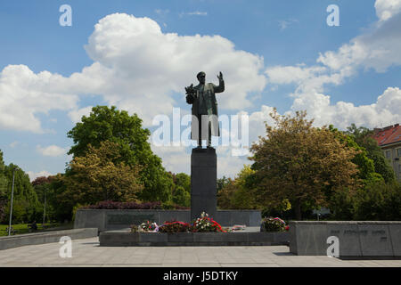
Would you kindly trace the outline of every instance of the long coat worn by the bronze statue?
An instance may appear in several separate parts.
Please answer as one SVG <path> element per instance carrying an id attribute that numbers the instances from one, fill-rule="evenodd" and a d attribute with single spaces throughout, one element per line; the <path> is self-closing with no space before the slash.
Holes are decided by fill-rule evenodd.
<path id="1" fill-rule="evenodd" d="M 216 94 L 222 93 L 225 91 L 225 82 L 224 80 L 219 80 L 219 85 L 214 85 L 213 83 L 208 83 L 204 85 L 203 91 L 201 88 L 201 84 L 194 86 L 193 88 L 196 90 L 196 95 L 194 101 L 192 103 L 192 124 L 191 124 L 191 139 L 198 140 L 199 139 L 199 125 L 197 118 L 201 120 L 201 115 L 209 115 L 204 117 L 209 118 L 210 121 L 210 133 L 214 136 L 220 136 L 220 129 L 218 127 L 218 113 L 217 113 L 217 100 Z M 201 102 L 206 104 L 206 109 L 202 108 L 200 105 Z M 214 115 L 214 116 L 211 116 Z M 202 122 L 201 127 L 201 139 L 208 140 L 209 131 L 208 125 L 205 124 L 205 121 Z"/>

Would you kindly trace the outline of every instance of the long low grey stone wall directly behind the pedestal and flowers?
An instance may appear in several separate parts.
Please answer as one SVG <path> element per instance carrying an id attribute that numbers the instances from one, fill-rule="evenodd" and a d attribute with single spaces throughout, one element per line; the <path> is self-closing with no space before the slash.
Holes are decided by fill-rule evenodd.
<path id="1" fill-rule="evenodd" d="M 213 217 L 223 226 L 245 224 L 259 226 L 261 213 L 259 210 L 217 210 Z M 99 232 L 119 230 L 131 224 L 142 224 L 146 221 L 162 224 L 173 220 L 191 222 L 190 210 L 114 210 L 114 209 L 78 209 L 74 228 L 98 228 Z"/>

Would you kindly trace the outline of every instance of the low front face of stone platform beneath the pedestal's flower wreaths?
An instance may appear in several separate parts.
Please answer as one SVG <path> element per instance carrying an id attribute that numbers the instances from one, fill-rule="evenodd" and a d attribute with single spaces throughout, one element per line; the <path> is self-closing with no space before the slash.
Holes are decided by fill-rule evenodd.
<path id="1" fill-rule="evenodd" d="M 101 247 L 288 245 L 288 232 L 101 232 Z"/>

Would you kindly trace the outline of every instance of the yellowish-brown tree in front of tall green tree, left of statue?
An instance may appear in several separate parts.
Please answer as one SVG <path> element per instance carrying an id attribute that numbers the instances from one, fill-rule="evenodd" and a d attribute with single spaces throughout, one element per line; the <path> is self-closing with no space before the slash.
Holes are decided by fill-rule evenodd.
<path id="1" fill-rule="evenodd" d="M 116 142 L 100 142 L 99 148 L 89 144 L 84 157 L 71 160 L 70 173 L 64 177 L 67 191 L 62 196 L 81 205 L 103 200 L 137 202 L 143 189 L 140 169 L 121 161 Z"/>

